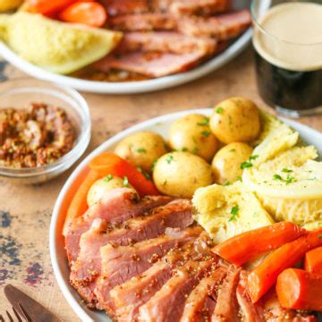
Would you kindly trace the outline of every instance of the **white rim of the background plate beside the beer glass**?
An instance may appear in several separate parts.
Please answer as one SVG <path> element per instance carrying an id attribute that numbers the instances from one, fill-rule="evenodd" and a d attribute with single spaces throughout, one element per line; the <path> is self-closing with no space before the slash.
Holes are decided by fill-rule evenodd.
<path id="1" fill-rule="evenodd" d="M 234 0 L 233 7 L 235 9 L 250 8 L 250 0 Z M 65 86 L 79 89 L 82 91 L 102 94 L 130 94 L 143 93 L 160 89 L 172 88 L 176 85 L 197 80 L 209 72 L 214 72 L 219 67 L 231 61 L 236 55 L 250 43 L 252 30 L 246 30 L 240 38 L 237 38 L 233 44 L 228 47 L 225 52 L 217 55 L 205 64 L 194 68 L 190 72 L 182 72 L 170 76 L 161 77 L 155 80 L 140 80 L 127 82 L 108 82 L 94 80 L 80 80 L 77 78 L 47 72 L 40 67 L 28 63 L 26 60 L 16 55 L 13 50 L 0 42 L 0 55 L 8 62 L 19 68 L 22 72 L 26 72 L 30 76 L 41 80 L 49 80 L 55 83 L 64 84 Z"/>

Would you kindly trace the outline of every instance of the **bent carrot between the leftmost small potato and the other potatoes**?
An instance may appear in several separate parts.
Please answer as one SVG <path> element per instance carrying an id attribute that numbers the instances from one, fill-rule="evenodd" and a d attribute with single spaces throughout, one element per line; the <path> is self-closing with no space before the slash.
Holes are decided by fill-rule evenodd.
<path id="1" fill-rule="evenodd" d="M 114 153 L 106 152 L 95 157 L 89 162 L 89 167 L 97 171 L 102 177 L 107 174 L 121 178 L 126 176 L 135 190 L 139 192 L 140 197 L 160 194 L 154 183 L 149 181 L 144 174 L 141 174 L 134 165 Z"/>

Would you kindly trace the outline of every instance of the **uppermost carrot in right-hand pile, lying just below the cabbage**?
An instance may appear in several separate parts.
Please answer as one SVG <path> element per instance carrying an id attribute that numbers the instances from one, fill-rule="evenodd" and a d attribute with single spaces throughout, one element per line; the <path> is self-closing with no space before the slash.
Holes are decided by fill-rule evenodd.
<path id="1" fill-rule="evenodd" d="M 307 231 L 298 225 L 281 222 L 241 233 L 216 245 L 212 251 L 229 262 L 242 266 L 251 258 L 256 258 L 269 250 L 275 250 L 305 233 Z"/>

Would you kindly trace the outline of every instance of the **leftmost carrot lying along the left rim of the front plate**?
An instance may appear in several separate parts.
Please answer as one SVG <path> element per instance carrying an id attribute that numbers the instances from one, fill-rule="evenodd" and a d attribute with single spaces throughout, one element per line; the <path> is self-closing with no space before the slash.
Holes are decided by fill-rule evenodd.
<path id="1" fill-rule="evenodd" d="M 89 170 L 85 179 L 80 183 L 77 191 L 72 197 L 72 201 L 67 209 L 66 219 L 64 222 L 64 231 L 68 229 L 68 226 L 72 222 L 73 218 L 81 216 L 88 209 L 87 194 L 91 185 L 99 179 L 100 175 L 95 170 Z M 81 176 L 80 176 L 81 178 Z M 76 179 L 75 182 L 78 182 Z"/>

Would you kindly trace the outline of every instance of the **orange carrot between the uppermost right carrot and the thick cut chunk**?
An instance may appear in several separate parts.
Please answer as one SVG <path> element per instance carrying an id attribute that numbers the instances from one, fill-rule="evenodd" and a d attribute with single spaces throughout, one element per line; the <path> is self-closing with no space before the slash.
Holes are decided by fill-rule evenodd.
<path id="1" fill-rule="evenodd" d="M 322 229 L 309 232 L 271 252 L 248 276 L 251 301 L 258 301 L 276 282 L 284 269 L 292 267 L 305 253 L 322 246 Z"/>

